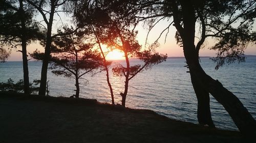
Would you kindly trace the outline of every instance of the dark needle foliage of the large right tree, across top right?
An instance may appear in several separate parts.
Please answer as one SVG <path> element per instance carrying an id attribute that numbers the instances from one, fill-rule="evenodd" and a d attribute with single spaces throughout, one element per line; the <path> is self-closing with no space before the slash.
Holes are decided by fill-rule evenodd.
<path id="1" fill-rule="evenodd" d="M 188 2 L 183 0 L 123 2 L 123 5 L 129 7 L 129 11 L 133 13 L 130 14 L 130 18 L 136 19 L 138 22 L 143 21 L 149 32 L 161 20 L 168 20 L 169 25 L 160 33 L 159 38 L 165 32 L 166 40 L 170 26 L 174 25 L 177 29 L 175 38 L 180 46 L 183 45 L 181 35 L 188 34 L 187 31 L 182 32 L 184 28 L 182 4 L 187 5 Z M 216 69 L 225 63 L 244 61 L 244 50 L 248 44 L 255 44 L 256 40 L 256 33 L 253 30 L 256 2 L 250 0 L 200 0 L 191 1 L 191 5 L 193 5 L 195 17 L 190 18 L 192 20 L 190 26 L 193 25 L 194 21 L 198 24 L 198 27 L 194 29 L 199 34 L 198 43 L 195 46 L 196 50 L 199 52 L 204 47 L 207 38 L 214 38 L 217 43 L 210 49 L 217 51 L 217 57 L 213 59 L 217 62 Z M 179 30 L 181 33 L 178 32 Z"/>

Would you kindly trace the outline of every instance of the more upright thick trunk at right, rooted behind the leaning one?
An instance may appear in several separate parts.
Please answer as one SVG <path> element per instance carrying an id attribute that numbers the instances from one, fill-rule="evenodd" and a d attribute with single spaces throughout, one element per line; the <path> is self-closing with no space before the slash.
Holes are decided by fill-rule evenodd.
<path id="1" fill-rule="evenodd" d="M 201 68 L 199 64 L 199 55 L 198 52 L 192 48 L 195 48 L 195 26 L 196 19 L 194 8 L 191 7 L 192 4 L 189 4 L 190 1 L 180 1 L 182 5 L 182 15 L 183 15 L 183 27 L 180 25 L 178 6 L 176 2 L 172 2 L 172 7 L 174 9 L 174 22 L 177 31 L 180 33 L 183 43 L 184 55 L 190 70 L 191 82 L 195 90 L 197 100 L 198 100 L 198 109 L 197 109 L 197 118 L 199 124 L 208 125 L 210 127 L 215 127 L 214 122 L 211 119 L 210 113 L 210 103 L 209 103 L 209 92 L 201 87 L 201 81 L 198 80 L 197 71 L 191 70 L 191 61 L 194 60 L 199 69 Z M 191 2 L 190 2 L 191 3 Z M 193 53 L 194 52 L 194 53 Z"/>

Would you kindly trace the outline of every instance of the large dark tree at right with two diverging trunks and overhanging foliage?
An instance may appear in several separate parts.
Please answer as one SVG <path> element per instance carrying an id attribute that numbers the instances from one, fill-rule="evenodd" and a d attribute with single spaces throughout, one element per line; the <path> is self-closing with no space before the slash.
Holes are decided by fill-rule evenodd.
<path id="1" fill-rule="evenodd" d="M 214 37 L 218 43 L 211 49 L 218 51 L 217 69 L 224 63 L 244 59 L 243 51 L 247 44 L 255 42 L 252 31 L 255 18 L 255 1 L 131 1 L 132 13 L 137 20 L 146 20 L 150 28 L 161 19 L 169 19 L 174 25 L 176 39 L 183 47 L 191 82 L 198 99 L 199 124 L 214 127 L 209 107 L 209 93 L 221 103 L 230 117 L 244 134 L 255 134 L 256 123 L 240 100 L 223 85 L 207 75 L 199 63 L 199 50 L 208 37 Z M 154 18 L 154 19 L 152 19 Z M 196 26 L 199 24 L 199 26 Z M 200 39 L 195 40 L 199 28 Z M 162 32 L 163 33 L 163 32 Z M 162 33 L 160 35 L 162 35 Z M 197 44 L 195 45 L 195 42 Z"/>

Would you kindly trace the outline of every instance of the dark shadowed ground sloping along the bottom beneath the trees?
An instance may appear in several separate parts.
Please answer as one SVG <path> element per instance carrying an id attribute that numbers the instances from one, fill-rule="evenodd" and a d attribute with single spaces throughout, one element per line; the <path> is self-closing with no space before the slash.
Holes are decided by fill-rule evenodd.
<path id="1" fill-rule="evenodd" d="M 0 93 L 0 142 L 245 142 L 236 131 L 95 100 Z M 248 140 L 247 140 L 248 141 Z"/>

